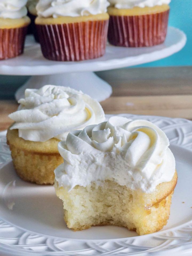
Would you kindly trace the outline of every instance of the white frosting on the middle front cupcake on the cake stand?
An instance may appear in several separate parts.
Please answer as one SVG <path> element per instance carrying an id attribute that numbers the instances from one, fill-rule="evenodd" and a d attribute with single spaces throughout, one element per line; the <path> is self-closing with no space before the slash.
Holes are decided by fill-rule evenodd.
<path id="1" fill-rule="evenodd" d="M 107 0 L 39 0 L 36 9 L 40 17 L 84 16 L 106 13 Z"/>

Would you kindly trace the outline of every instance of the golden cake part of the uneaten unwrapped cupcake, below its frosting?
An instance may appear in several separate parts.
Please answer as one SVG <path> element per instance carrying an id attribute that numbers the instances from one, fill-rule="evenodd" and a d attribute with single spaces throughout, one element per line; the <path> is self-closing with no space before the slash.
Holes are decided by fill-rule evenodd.
<path id="1" fill-rule="evenodd" d="M 63 163 L 57 150 L 57 139 L 46 142 L 26 141 L 18 136 L 18 130 L 7 131 L 7 144 L 15 170 L 24 181 L 37 184 L 53 184 L 54 169 Z"/>

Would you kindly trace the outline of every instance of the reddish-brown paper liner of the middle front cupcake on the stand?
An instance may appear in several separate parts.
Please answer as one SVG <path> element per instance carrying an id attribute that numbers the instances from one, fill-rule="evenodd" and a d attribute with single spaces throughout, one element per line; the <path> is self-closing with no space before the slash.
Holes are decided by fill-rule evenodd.
<path id="1" fill-rule="evenodd" d="M 108 20 L 36 25 L 43 56 L 54 61 L 82 61 L 105 53 Z"/>

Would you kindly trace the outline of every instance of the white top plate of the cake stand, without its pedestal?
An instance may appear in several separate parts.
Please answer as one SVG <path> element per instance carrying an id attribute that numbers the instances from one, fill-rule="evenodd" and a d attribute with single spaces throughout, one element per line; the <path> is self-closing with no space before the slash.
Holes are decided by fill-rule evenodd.
<path id="1" fill-rule="evenodd" d="M 106 53 L 98 59 L 79 62 L 50 61 L 43 57 L 38 43 L 27 37 L 24 54 L 0 62 L 1 75 L 50 75 L 64 72 L 101 71 L 134 66 L 170 56 L 181 50 L 186 35 L 179 29 L 169 27 L 163 44 L 153 47 L 126 48 L 107 45 Z"/>

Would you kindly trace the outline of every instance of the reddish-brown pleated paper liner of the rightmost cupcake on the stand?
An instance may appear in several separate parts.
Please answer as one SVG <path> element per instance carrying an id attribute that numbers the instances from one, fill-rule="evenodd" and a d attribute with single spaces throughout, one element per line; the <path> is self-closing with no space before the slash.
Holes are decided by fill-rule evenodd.
<path id="1" fill-rule="evenodd" d="M 169 10 L 139 16 L 110 16 L 109 43 L 123 47 L 161 44 L 166 38 L 168 18 Z"/>

